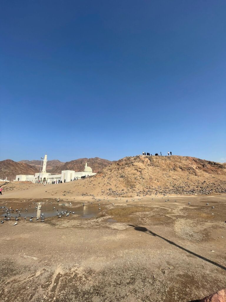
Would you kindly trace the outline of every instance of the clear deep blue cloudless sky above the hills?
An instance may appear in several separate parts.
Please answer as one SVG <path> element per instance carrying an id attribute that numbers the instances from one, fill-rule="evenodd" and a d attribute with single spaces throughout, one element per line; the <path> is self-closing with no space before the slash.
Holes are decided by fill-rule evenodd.
<path id="1" fill-rule="evenodd" d="M 3 1 L 0 160 L 226 162 L 226 1 Z"/>

